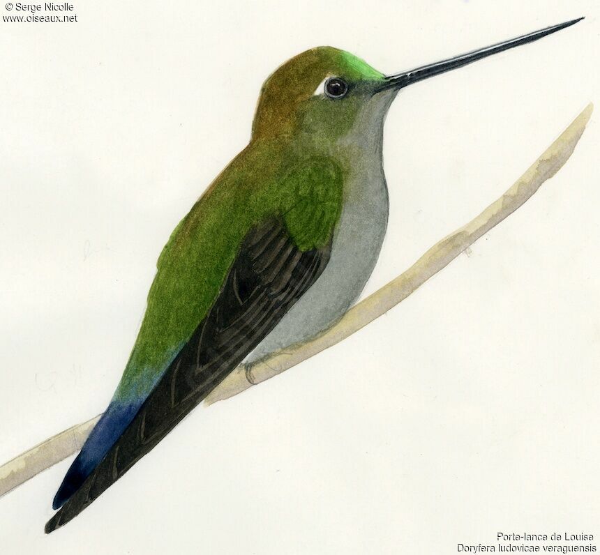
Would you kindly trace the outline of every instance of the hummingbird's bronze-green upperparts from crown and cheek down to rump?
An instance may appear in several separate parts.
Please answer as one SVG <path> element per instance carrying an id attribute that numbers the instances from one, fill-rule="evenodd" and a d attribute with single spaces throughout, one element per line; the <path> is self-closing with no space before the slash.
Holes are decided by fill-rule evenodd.
<path id="1" fill-rule="evenodd" d="M 360 99 L 338 103 L 315 96 L 329 75 L 350 82 L 383 79 L 365 62 L 331 47 L 300 54 L 267 79 L 250 144 L 183 218 L 160 254 L 147 312 L 114 400 L 148 395 L 209 311 L 253 226 L 280 217 L 301 250 L 331 240 L 348 172 L 331 144 L 352 124 Z M 329 126 L 315 129 L 311 117 L 327 109 Z"/>

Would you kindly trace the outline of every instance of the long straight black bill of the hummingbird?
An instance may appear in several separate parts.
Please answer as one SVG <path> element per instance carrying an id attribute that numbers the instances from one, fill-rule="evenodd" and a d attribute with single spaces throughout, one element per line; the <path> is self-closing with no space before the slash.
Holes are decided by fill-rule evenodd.
<path id="1" fill-rule="evenodd" d="M 455 56 L 447 60 L 438 61 L 436 63 L 430 63 L 427 66 L 422 66 L 421 68 L 415 68 L 410 71 L 405 71 L 404 73 L 397 73 L 396 75 L 389 75 L 388 77 L 386 77 L 387 84 L 385 84 L 382 87 L 382 90 L 391 88 L 402 89 L 407 85 L 416 83 L 417 81 L 422 81 L 423 79 L 427 79 L 428 77 L 440 75 L 440 73 L 445 73 L 456 68 L 462 68 L 463 66 L 466 66 L 467 63 L 472 63 L 474 61 L 481 60 L 483 58 L 486 58 L 487 56 L 491 56 L 492 54 L 504 52 L 504 50 L 509 50 L 509 48 L 513 48 L 516 46 L 532 43 L 534 40 L 538 40 L 539 38 L 545 37 L 546 35 L 550 35 L 552 33 L 555 33 L 556 31 L 560 31 L 560 29 L 564 29 L 565 27 L 574 25 L 581 20 L 583 20 L 583 17 L 580 17 L 577 20 L 571 20 L 565 23 L 560 23 L 558 25 L 553 25 L 551 27 L 546 27 L 546 29 L 534 31 L 533 33 L 529 33 L 528 35 L 523 35 L 517 38 L 511 38 L 510 40 L 505 40 L 504 43 L 498 43 L 497 45 L 481 48 L 480 50 L 474 50 L 473 52 L 467 52 L 466 54 L 460 54 L 460 56 Z"/>

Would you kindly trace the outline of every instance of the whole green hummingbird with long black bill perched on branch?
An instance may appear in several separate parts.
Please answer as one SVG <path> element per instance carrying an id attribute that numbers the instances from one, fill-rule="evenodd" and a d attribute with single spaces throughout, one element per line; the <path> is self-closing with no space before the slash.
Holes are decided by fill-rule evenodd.
<path id="1" fill-rule="evenodd" d="M 357 301 L 387 228 L 384 119 L 403 89 L 583 19 L 403 73 L 333 47 L 264 82 L 250 142 L 172 232 L 117 389 L 52 504 L 63 526 L 239 364 L 327 330 Z"/>

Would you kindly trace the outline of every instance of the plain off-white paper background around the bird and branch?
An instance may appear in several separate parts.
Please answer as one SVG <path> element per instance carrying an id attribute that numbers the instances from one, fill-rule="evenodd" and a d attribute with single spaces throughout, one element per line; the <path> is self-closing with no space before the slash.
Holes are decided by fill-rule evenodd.
<path id="1" fill-rule="evenodd" d="M 290 56 L 329 44 L 393 73 L 587 16 L 400 93 L 366 293 L 600 100 L 593 1 L 73 1 L 77 23 L 0 22 L 0 463 L 104 409 L 160 249 Z M 197 409 L 64 529 L 43 534 L 70 460 L 4 496 L 0 552 L 428 554 L 497 531 L 600 535 L 597 118 L 468 256 L 343 344 Z"/>

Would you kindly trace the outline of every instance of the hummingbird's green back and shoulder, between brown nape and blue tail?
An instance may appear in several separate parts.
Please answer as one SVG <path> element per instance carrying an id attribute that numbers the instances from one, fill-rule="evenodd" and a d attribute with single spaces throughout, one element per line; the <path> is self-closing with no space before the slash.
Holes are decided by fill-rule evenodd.
<path id="1" fill-rule="evenodd" d="M 259 152 L 234 160 L 165 246 L 117 400 L 149 393 L 209 311 L 252 227 L 280 215 L 300 250 L 320 248 L 331 238 L 342 206 L 338 165 L 310 158 L 296 161 L 287 172 L 274 172 L 278 156 Z M 275 177 L 257 185 L 269 174 Z"/>

